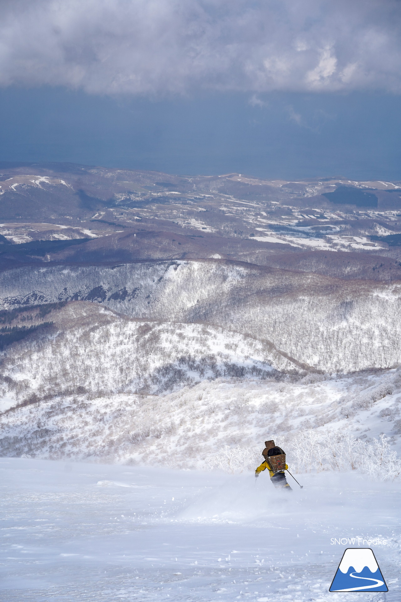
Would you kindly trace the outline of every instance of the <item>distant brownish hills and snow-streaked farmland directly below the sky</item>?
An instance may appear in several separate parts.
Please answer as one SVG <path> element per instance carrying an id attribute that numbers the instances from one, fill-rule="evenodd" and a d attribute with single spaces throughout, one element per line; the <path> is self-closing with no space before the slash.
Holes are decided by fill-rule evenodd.
<path id="1" fill-rule="evenodd" d="M 401 277 L 400 182 L 2 163 L 0 187 L 0 270 L 215 258 L 344 279 Z"/>

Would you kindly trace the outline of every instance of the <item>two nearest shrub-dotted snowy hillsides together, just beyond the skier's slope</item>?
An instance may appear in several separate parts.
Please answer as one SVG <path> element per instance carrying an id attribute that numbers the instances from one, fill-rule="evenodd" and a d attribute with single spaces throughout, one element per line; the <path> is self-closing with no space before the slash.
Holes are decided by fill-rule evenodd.
<path id="1" fill-rule="evenodd" d="M 164 454 L 174 466 L 204 467 L 225 445 L 257 449 L 305 429 L 363 441 L 387 433 L 398 445 L 394 369 L 305 373 L 266 341 L 90 302 L 0 317 L 6 336 L 31 324 L 1 352 L 2 455 L 150 462 Z"/>

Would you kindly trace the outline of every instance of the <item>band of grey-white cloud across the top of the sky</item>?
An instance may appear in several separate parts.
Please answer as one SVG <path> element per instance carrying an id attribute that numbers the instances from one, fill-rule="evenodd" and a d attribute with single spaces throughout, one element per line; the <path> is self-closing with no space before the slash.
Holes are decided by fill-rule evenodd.
<path id="1" fill-rule="evenodd" d="M 2 0 L 0 85 L 401 92 L 399 0 Z M 255 96 L 254 98 L 258 98 Z"/>

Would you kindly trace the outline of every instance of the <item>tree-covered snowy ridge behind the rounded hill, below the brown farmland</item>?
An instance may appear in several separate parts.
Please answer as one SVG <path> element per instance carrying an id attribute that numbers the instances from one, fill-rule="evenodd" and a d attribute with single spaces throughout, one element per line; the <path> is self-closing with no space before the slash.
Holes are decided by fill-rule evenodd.
<path id="1" fill-rule="evenodd" d="M 40 267 L 0 275 L 0 306 L 88 300 L 144 320 L 203 321 L 271 344 L 299 368 L 401 363 L 401 287 L 234 262 Z"/>

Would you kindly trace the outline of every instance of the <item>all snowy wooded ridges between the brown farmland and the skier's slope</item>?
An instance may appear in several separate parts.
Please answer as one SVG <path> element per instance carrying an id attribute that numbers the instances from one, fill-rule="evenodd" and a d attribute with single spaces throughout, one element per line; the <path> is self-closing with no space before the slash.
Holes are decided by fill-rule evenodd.
<path id="1" fill-rule="evenodd" d="M 0 279 L 1 335 L 22 329 L 1 352 L 3 455 L 183 467 L 195 439 L 200 466 L 226 444 L 310 428 L 397 443 L 397 284 L 223 261 Z"/>

